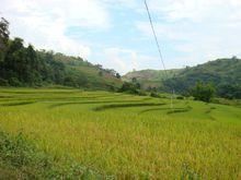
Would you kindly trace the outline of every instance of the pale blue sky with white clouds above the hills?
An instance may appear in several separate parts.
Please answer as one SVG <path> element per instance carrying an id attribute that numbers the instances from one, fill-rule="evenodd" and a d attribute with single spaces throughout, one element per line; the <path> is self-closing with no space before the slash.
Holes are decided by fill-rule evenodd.
<path id="1" fill-rule="evenodd" d="M 147 0 L 167 69 L 241 57 L 241 0 Z M 120 74 L 163 69 L 144 0 L 0 0 L 11 37 Z"/>

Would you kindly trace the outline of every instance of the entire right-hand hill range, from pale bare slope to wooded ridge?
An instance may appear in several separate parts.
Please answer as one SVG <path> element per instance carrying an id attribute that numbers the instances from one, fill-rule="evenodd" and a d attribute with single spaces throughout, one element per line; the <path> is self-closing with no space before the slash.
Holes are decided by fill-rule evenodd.
<path id="1" fill-rule="evenodd" d="M 217 59 L 192 68 L 186 67 L 185 69 L 171 71 L 172 73 L 168 72 L 169 77 L 161 80 L 157 79 L 157 74 L 164 74 L 164 72 L 154 70 L 131 72 L 125 75 L 125 79 L 131 81 L 133 77 L 136 77 L 145 88 L 152 85 L 159 91 L 167 92 L 174 88 L 177 93 L 185 93 L 196 82 L 202 81 L 204 83 L 213 83 L 218 95 L 223 96 L 226 94 L 226 96 L 237 97 L 241 94 L 241 59 L 236 57 Z M 141 76 L 147 73 L 149 75 L 144 76 L 148 76 L 148 79 Z"/>

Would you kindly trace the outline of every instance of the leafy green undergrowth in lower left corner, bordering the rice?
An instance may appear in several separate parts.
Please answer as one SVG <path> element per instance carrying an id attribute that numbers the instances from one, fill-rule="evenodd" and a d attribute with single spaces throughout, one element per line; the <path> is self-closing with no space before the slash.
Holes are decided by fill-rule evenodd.
<path id="1" fill-rule="evenodd" d="M 60 159 L 38 149 L 19 133 L 11 136 L 0 130 L 1 166 L 21 173 L 21 179 L 101 179 L 101 173 L 71 158 Z"/>

